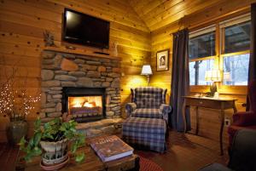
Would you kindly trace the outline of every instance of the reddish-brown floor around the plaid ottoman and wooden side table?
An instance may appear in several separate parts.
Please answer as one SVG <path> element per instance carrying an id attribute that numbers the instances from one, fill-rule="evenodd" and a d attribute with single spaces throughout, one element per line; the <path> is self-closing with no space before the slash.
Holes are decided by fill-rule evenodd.
<path id="1" fill-rule="evenodd" d="M 0 171 L 14 170 L 17 153 L 18 147 L 0 144 Z M 196 171 L 208 163 L 225 164 L 228 160 L 225 149 L 224 156 L 219 156 L 217 141 L 172 130 L 169 131 L 166 153 L 138 150 L 135 153 L 158 163 L 165 171 Z"/>

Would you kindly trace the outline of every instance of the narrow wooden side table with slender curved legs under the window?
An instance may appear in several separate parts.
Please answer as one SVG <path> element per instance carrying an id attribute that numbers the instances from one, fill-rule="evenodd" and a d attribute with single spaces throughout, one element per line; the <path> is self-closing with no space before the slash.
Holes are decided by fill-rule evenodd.
<path id="1" fill-rule="evenodd" d="M 207 98 L 207 97 L 195 97 L 195 96 L 183 96 L 183 123 L 184 123 L 184 133 L 187 132 L 187 122 L 186 122 L 186 107 L 190 105 L 195 106 L 196 115 L 196 126 L 195 134 L 198 134 L 199 117 L 198 117 L 198 107 L 206 107 L 211 109 L 220 110 L 220 130 L 219 130 L 219 147 L 220 155 L 223 155 L 223 128 L 224 128 L 224 110 L 232 108 L 234 113 L 236 113 L 235 99 L 230 98 Z"/>

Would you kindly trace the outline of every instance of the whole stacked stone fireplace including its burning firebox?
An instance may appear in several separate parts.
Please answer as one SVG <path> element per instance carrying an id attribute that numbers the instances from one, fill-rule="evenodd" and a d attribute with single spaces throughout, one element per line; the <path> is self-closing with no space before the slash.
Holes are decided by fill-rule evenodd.
<path id="1" fill-rule="evenodd" d="M 97 123 L 104 130 L 119 123 L 119 60 L 44 50 L 41 78 L 43 122 L 67 112 L 81 123 L 79 128 L 96 125 L 94 132 Z"/>

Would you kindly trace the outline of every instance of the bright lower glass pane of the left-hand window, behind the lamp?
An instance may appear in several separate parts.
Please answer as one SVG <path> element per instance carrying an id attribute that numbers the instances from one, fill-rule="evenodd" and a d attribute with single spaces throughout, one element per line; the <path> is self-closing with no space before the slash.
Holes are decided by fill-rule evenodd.
<path id="1" fill-rule="evenodd" d="M 189 62 L 189 84 L 207 85 L 205 81 L 206 71 L 213 70 L 213 64 L 213 59 Z"/>

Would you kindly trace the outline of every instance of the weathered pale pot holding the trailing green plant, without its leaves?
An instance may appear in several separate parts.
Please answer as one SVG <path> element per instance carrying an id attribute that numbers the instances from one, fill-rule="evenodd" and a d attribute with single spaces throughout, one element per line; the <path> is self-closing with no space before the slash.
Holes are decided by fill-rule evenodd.
<path id="1" fill-rule="evenodd" d="M 57 142 L 40 141 L 40 145 L 44 151 L 42 156 L 44 166 L 65 162 L 67 160 L 67 143 L 67 139 Z"/>

